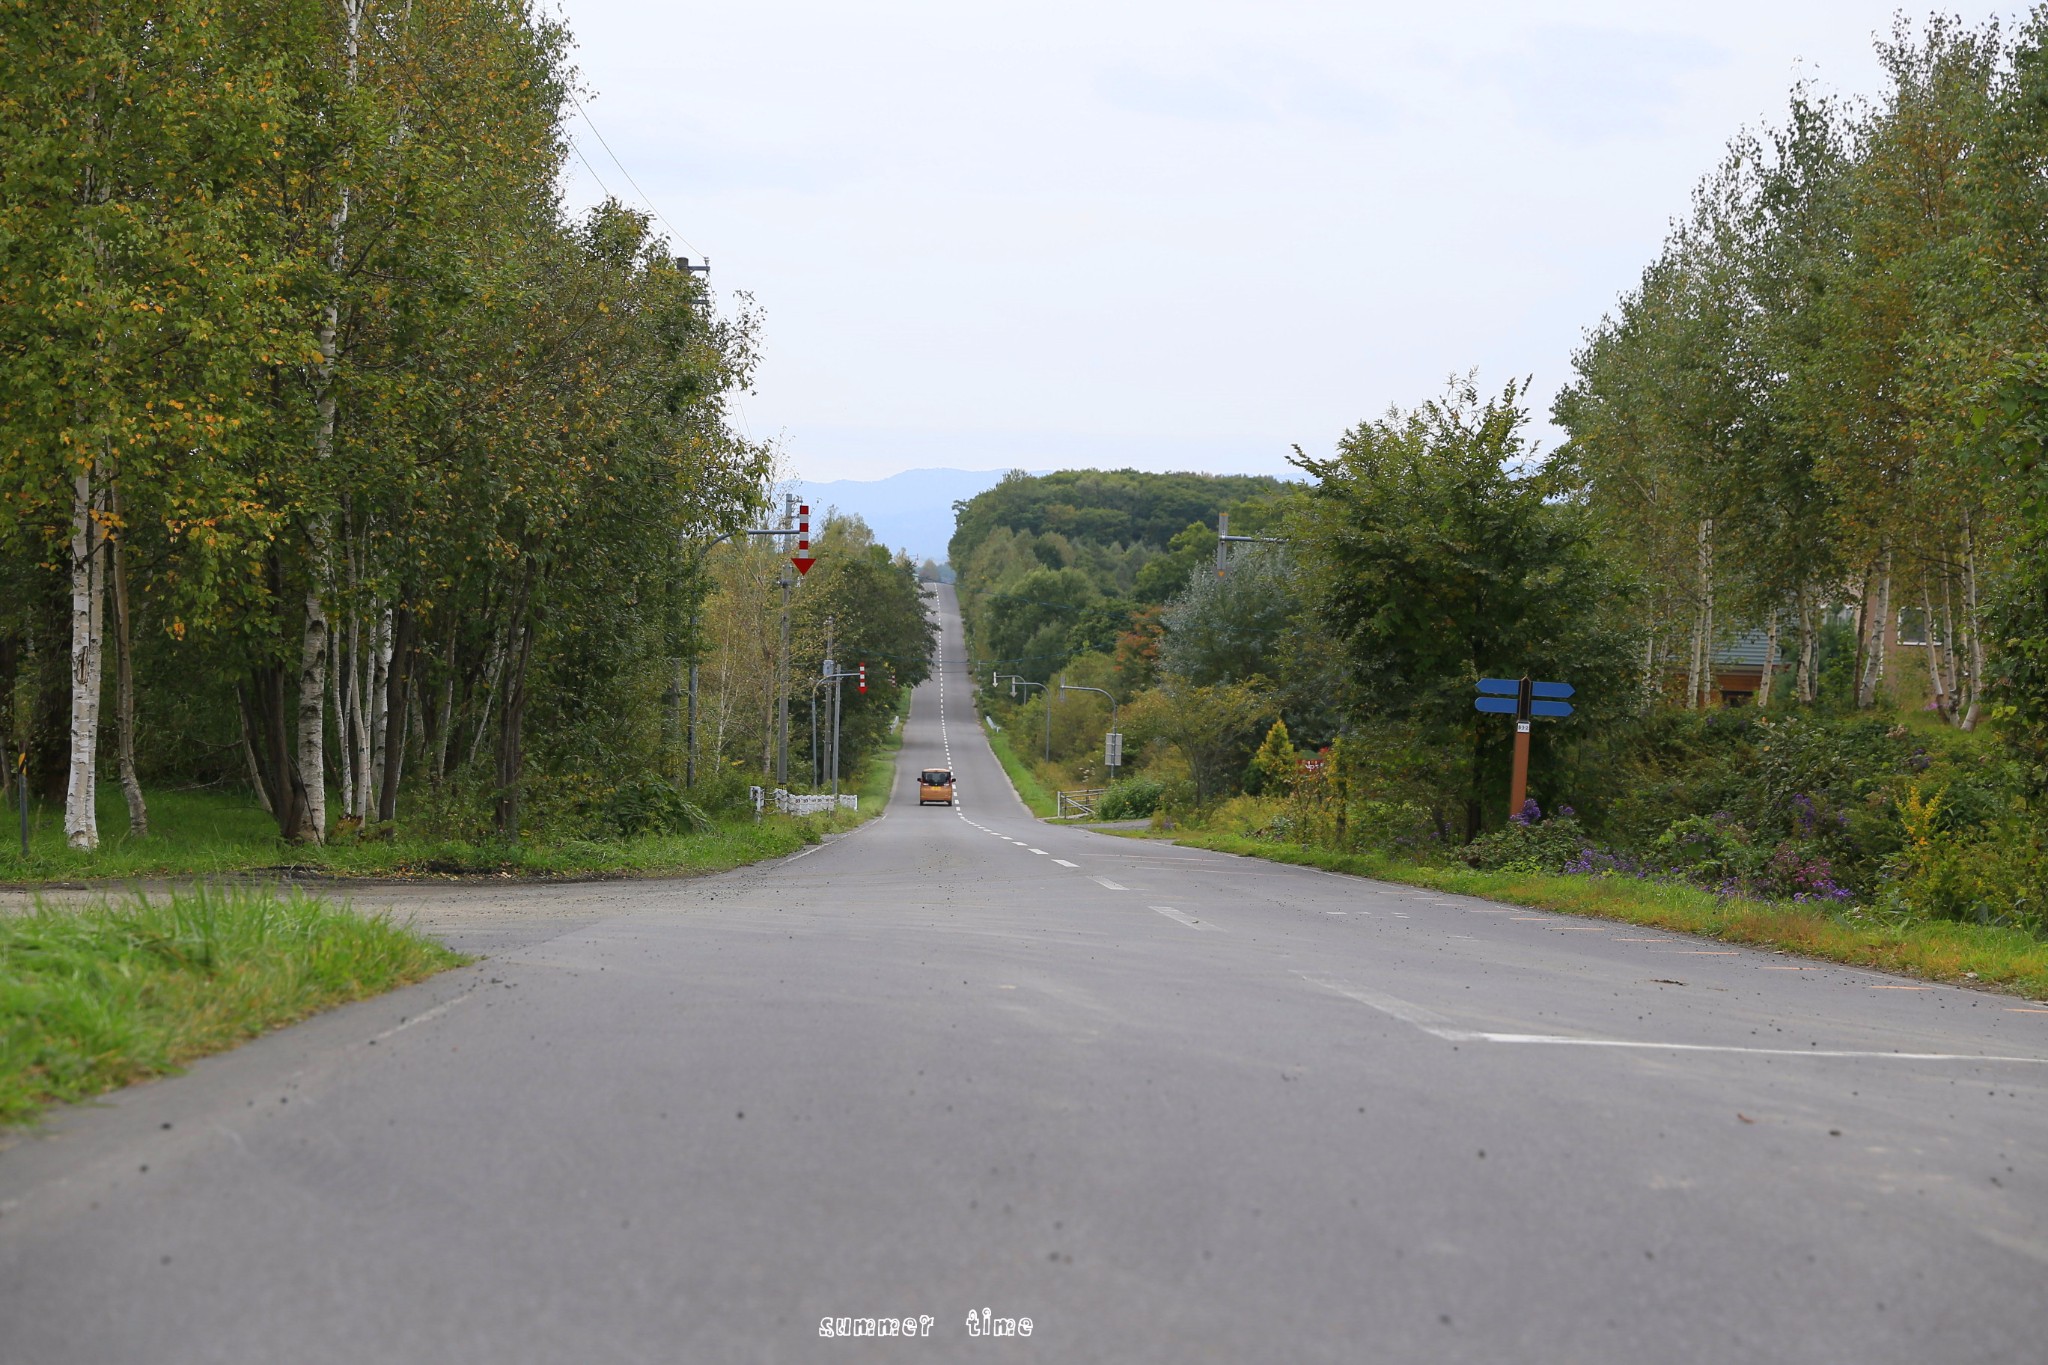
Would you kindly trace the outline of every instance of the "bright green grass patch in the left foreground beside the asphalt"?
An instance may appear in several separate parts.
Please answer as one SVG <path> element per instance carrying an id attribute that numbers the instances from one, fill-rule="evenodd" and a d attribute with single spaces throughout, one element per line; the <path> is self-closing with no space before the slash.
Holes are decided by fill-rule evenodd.
<path id="1" fill-rule="evenodd" d="M 250 886 L 0 917 L 0 1126 L 463 962 L 385 917 Z"/>

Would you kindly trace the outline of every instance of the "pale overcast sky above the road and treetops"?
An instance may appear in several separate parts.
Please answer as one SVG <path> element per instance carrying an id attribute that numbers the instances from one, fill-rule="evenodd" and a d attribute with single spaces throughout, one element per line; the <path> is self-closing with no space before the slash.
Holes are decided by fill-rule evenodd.
<path id="1" fill-rule="evenodd" d="M 764 309 L 743 420 L 813 481 L 1288 473 L 1470 366 L 1542 415 L 1726 139 L 1800 78 L 1876 92 L 1890 14 L 565 0 L 596 131 Z"/>

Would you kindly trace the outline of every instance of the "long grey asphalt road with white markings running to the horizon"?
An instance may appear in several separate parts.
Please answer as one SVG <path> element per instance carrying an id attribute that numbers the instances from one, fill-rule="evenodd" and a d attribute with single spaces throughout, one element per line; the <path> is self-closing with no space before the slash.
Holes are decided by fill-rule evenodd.
<path id="1" fill-rule="evenodd" d="M 2048 1013 L 1038 825 L 942 653 L 858 833 L 0 1152 L 0 1361 L 2048 1359 Z"/>

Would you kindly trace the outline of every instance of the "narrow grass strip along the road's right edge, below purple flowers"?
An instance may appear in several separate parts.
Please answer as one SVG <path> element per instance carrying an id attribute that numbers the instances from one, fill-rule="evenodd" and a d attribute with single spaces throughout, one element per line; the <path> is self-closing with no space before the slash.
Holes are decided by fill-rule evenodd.
<path id="1" fill-rule="evenodd" d="M 1374 853 L 1329 853 L 1294 843 L 1264 843 L 1239 835 L 1176 831 L 1176 843 L 1266 857 L 1272 862 L 1348 872 L 1380 882 L 1526 905 L 1540 911 L 1618 919 L 1630 925 L 1696 933 L 1724 943 L 1778 948 L 1788 954 L 1901 972 L 1925 980 L 1997 986 L 2036 1001 L 2048 999 L 2048 943 L 2023 929 L 1954 921 L 1862 921 L 1855 911 L 1778 900 L 1722 900 L 1696 886 L 1616 876 L 1552 876 L 1542 872 L 1475 872 L 1432 868 Z"/>

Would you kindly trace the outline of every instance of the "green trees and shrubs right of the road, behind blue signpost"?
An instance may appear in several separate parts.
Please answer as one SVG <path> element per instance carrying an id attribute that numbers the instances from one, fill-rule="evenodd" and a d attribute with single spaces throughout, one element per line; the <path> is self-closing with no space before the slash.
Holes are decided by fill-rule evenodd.
<path id="1" fill-rule="evenodd" d="M 2048 925 L 2048 16 L 1878 55 L 1878 96 L 1802 86 L 1729 145 L 1587 332 L 1552 450 L 1520 383 L 1468 377 L 1282 489 L 967 503 L 983 671 L 1118 694 L 1110 812 Z M 1217 510 L 1282 542 L 1219 575 Z M 1473 688 L 1522 673 L 1577 714 L 1509 812 Z M 1042 694 L 989 704 L 1040 733 Z M 1055 702 L 1044 776 L 1100 784 L 1104 724 Z"/>

